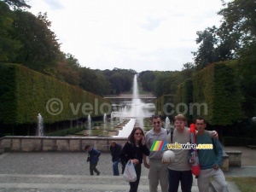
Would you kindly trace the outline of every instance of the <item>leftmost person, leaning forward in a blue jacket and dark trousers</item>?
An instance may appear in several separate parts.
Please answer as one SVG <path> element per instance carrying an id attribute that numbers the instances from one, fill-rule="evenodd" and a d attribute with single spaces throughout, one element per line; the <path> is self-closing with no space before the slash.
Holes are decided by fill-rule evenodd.
<path id="1" fill-rule="evenodd" d="M 86 145 L 85 150 L 88 152 L 87 162 L 90 162 L 90 175 L 93 175 L 93 172 L 96 172 L 97 175 L 100 175 L 101 172 L 96 169 L 96 166 L 98 164 L 101 152 L 95 148 L 92 148 L 90 145 Z"/>

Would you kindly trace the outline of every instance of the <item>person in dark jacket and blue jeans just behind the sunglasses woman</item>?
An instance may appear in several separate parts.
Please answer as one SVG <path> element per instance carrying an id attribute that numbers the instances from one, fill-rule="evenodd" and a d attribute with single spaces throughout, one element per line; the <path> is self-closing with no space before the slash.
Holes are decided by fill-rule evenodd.
<path id="1" fill-rule="evenodd" d="M 119 176 L 119 154 L 121 152 L 122 146 L 120 146 L 118 143 L 111 142 L 110 145 L 110 153 L 112 156 L 112 162 L 113 162 L 113 175 Z"/>

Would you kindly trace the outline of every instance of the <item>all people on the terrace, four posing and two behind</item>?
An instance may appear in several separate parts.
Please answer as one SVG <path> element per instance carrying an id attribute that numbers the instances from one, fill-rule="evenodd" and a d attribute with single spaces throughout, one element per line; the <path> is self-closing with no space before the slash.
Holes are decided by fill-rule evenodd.
<path id="1" fill-rule="evenodd" d="M 111 143 L 110 151 L 113 161 L 113 175 L 119 175 L 119 160 L 122 162 L 122 173 L 125 163 L 131 160 L 135 166 L 137 180 L 130 182 L 130 192 L 137 192 L 140 181 L 142 164 L 149 169 L 149 191 L 157 192 L 160 183 L 162 192 L 177 192 L 179 183 L 183 192 L 191 192 L 193 177 L 191 172 L 191 162 L 194 159 L 190 156 L 189 149 L 172 149 L 175 159 L 171 163 L 162 160 L 161 151 L 149 151 L 154 141 L 166 141 L 167 143 L 186 144 L 191 141 L 191 133 L 186 127 L 187 120 L 183 114 L 177 114 L 174 119 L 175 129 L 171 132 L 162 128 L 160 116 L 152 117 L 153 129 L 144 135 L 141 128 L 135 127 L 128 137 L 127 143 L 122 148 L 118 143 Z M 222 162 L 223 149 L 218 141 L 216 131 L 206 131 L 206 122 L 202 118 L 195 120 L 196 127 L 196 144 L 210 144 L 212 149 L 198 149 L 201 173 L 197 177 L 198 189 L 200 192 L 209 191 L 211 177 L 218 183 L 219 192 L 227 192 L 227 183 L 225 182 L 224 173 L 219 168 Z M 86 149 L 86 148 L 85 148 Z M 91 149 L 90 149 L 91 150 Z M 96 152 L 95 156 L 98 157 Z M 147 157 L 148 156 L 148 157 Z M 96 166 L 90 167 L 90 174 L 93 171 L 98 175 Z"/>

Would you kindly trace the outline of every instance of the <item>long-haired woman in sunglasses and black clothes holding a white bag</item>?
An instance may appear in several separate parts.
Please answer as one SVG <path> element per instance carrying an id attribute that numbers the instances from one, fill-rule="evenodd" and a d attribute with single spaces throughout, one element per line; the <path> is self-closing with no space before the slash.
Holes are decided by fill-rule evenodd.
<path id="1" fill-rule="evenodd" d="M 149 153 L 149 149 L 145 145 L 145 137 L 142 128 L 135 127 L 131 131 L 128 142 L 125 143 L 120 153 L 121 160 L 126 160 L 126 163 L 127 160 L 131 160 L 137 174 L 137 180 L 135 182 L 129 182 L 130 192 L 137 192 L 142 172 L 143 154 L 148 156 Z"/>

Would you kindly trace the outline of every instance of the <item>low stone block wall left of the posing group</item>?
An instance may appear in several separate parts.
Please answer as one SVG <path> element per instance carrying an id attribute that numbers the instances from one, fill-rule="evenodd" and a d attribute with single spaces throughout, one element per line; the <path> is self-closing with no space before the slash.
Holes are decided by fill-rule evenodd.
<path id="1" fill-rule="evenodd" d="M 127 138 L 113 137 L 2 137 L 0 151 L 3 152 L 47 152 L 47 151 L 84 151 L 90 144 L 102 152 L 109 152 L 111 141 L 124 145 Z"/>

